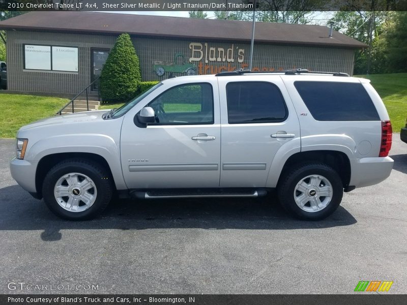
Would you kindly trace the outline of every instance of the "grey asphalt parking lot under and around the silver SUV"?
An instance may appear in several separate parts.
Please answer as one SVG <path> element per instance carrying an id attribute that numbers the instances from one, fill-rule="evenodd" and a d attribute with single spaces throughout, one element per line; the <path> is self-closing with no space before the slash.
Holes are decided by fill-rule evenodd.
<path id="1" fill-rule="evenodd" d="M 391 176 L 345 194 L 319 222 L 289 218 L 272 196 L 117 201 L 96 220 L 63 221 L 11 178 L 14 145 L 0 140 L 0 293 L 342 294 L 362 280 L 407 291 L 407 144 L 399 134 Z M 83 290 L 92 284 L 97 290 Z"/>

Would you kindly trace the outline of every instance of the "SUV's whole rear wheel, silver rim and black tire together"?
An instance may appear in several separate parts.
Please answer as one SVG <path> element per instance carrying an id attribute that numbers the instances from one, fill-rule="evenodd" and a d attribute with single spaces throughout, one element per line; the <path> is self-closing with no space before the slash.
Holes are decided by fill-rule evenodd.
<path id="1" fill-rule="evenodd" d="M 278 186 L 284 209 L 304 220 L 321 220 L 339 206 L 343 195 L 338 173 L 323 163 L 306 163 L 288 170 Z"/>

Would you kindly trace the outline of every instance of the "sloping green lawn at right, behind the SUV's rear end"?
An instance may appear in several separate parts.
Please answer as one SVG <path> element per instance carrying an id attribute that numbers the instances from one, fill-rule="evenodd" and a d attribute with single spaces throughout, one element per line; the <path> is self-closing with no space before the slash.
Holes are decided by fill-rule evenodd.
<path id="1" fill-rule="evenodd" d="M 356 75 L 355 75 L 356 76 Z M 407 73 L 359 75 L 368 78 L 389 112 L 394 132 L 400 132 L 407 118 Z"/>

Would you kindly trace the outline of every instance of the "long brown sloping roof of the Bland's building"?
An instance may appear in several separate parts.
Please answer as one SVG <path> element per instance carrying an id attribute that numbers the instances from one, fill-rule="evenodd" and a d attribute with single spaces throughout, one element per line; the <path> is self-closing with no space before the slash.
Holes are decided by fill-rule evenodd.
<path id="1" fill-rule="evenodd" d="M 30 12 L 0 22 L 0 28 L 71 33 L 129 33 L 181 39 L 250 41 L 250 21 L 194 19 L 99 12 Z M 275 44 L 364 48 L 364 43 L 321 25 L 256 22 L 255 41 Z"/>

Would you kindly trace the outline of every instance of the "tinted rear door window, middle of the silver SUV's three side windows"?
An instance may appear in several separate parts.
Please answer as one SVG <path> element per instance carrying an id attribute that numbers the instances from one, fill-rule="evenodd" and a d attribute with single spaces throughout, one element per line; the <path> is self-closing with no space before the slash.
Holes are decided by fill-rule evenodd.
<path id="1" fill-rule="evenodd" d="M 287 111 L 280 90 L 267 82 L 226 85 L 229 124 L 281 122 Z"/>

